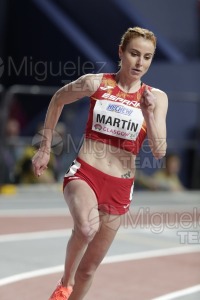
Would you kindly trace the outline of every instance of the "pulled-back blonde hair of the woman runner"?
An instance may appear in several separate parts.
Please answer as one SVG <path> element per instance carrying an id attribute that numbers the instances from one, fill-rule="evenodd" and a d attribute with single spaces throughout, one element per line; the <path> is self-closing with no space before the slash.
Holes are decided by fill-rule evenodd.
<path id="1" fill-rule="evenodd" d="M 152 41 L 156 49 L 156 36 L 152 31 L 141 27 L 132 27 L 132 28 L 130 27 L 127 29 L 127 31 L 123 34 L 121 38 L 121 43 L 119 46 L 121 47 L 122 51 L 125 51 L 128 43 L 132 39 L 137 37 L 143 37 L 146 40 Z"/>

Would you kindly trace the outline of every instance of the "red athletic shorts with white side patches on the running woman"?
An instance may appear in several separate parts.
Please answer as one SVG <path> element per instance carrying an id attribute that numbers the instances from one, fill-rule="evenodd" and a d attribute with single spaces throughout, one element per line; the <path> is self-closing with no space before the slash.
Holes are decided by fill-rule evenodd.
<path id="1" fill-rule="evenodd" d="M 129 210 L 134 178 L 107 175 L 77 158 L 64 176 L 63 190 L 70 181 L 78 179 L 84 180 L 92 188 L 99 210 L 113 215 L 122 215 Z"/>

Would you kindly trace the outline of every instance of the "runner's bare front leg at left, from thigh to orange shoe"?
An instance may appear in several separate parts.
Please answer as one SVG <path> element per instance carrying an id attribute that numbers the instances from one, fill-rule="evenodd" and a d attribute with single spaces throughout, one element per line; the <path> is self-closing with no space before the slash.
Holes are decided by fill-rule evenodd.
<path id="1" fill-rule="evenodd" d="M 73 286 L 79 263 L 99 229 L 99 212 L 95 193 L 83 180 L 69 182 L 64 189 L 64 197 L 74 221 L 74 230 L 66 249 L 62 283 Z"/>

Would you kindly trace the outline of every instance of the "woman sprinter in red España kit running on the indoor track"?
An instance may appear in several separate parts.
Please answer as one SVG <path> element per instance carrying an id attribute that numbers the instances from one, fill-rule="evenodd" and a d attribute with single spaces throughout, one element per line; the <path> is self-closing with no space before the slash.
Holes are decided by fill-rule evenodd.
<path id="1" fill-rule="evenodd" d="M 129 28 L 119 46 L 117 73 L 81 76 L 50 101 L 45 138 L 32 160 L 36 176 L 47 168 L 52 132 L 63 106 L 90 97 L 84 141 L 64 176 L 64 197 L 74 228 L 64 273 L 50 300 L 84 299 L 117 233 L 120 216 L 129 210 L 135 159 L 146 136 L 156 159 L 166 153 L 167 95 L 141 81 L 155 49 L 153 32 Z"/>

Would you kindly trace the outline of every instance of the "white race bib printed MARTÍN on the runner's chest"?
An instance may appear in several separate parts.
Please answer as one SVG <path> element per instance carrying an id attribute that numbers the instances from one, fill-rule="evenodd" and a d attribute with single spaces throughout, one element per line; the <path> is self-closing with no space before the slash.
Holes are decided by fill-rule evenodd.
<path id="1" fill-rule="evenodd" d="M 93 110 L 92 130 L 135 141 L 143 120 L 142 112 L 138 108 L 97 100 Z"/>

